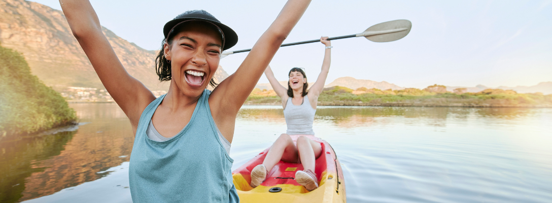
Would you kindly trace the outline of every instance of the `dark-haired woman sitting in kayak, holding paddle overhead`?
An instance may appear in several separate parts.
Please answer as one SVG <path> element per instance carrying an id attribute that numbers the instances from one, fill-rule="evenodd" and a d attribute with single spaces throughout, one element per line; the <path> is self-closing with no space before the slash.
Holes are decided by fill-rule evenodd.
<path id="1" fill-rule="evenodd" d="M 320 143 L 305 136 L 299 136 L 296 141 L 297 144 L 295 144 L 290 135 L 314 135 L 312 122 L 316 113 L 316 104 L 324 88 L 324 83 L 326 83 L 328 71 L 330 71 L 330 49 L 332 46 L 327 39 L 327 37 L 320 38 L 320 42 L 326 45 L 322 71 L 309 91 L 307 91 L 307 87 L 309 87 L 307 76 L 301 68 L 291 68 L 289 71 L 288 89 L 282 86 L 274 77 L 270 66 L 264 71 L 274 92 L 282 98 L 285 123 L 288 125 L 288 130 L 280 135 L 270 147 L 263 164 L 259 164 L 251 170 L 251 186 L 253 188 L 256 188 L 266 179 L 270 170 L 280 160 L 301 163 L 304 170 L 298 170 L 295 173 L 297 183 L 305 186 L 305 189 L 309 191 L 318 188 L 318 180 L 314 171 L 315 160 L 322 153 Z"/>

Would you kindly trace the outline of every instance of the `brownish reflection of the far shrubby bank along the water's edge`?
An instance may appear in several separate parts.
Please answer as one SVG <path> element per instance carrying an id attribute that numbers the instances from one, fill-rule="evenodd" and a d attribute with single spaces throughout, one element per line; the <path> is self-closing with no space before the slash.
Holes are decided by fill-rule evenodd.
<path id="1" fill-rule="evenodd" d="M 515 120 L 542 113 L 536 108 L 443 108 L 443 107 L 385 107 L 385 106 L 319 106 L 317 122 L 331 121 L 337 127 L 386 125 L 392 119 L 385 117 L 416 118 L 408 120 L 412 125 L 421 123 L 445 127 L 447 119 L 467 121 L 477 118 Z M 284 123 L 282 106 L 244 106 L 238 119 Z M 394 122 L 395 120 L 392 120 Z M 413 121 L 413 122 L 412 122 Z"/>

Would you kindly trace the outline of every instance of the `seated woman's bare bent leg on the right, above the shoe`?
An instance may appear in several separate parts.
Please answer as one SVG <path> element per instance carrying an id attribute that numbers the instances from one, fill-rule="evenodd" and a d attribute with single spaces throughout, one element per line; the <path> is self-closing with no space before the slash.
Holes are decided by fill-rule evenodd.
<path id="1" fill-rule="evenodd" d="M 299 151 L 301 163 L 303 164 L 303 170 L 310 169 L 312 170 L 312 172 L 314 172 L 316 158 L 320 157 L 322 153 L 322 147 L 320 146 L 320 143 L 315 142 L 308 137 L 300 136 L 299 138 L 297 138 L 297 149 Z"/>

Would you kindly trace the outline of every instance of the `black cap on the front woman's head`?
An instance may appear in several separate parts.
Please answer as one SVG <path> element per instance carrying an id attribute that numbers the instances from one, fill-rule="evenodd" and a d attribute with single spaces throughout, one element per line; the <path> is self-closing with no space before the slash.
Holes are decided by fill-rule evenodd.
<path id="1" fill-rule="evenodd" d="M 230 49 L 238 42 L 238 35 L 234 30 L 232 30 L 229 26 L 220 23 L 219 20 L 205 10 L 188 10 L 187 12 L 184 12 L 167 22 L 165 26 L 163 26 L 163 34 L 165 35 L 165 39 L 168 39 L 168 35 L 171 34 L 171 31 L 179 23 L 183 23 L 188 20 L 201 20 L 217 26 L 219 31 L 222 32 L 222 50 Z"/>

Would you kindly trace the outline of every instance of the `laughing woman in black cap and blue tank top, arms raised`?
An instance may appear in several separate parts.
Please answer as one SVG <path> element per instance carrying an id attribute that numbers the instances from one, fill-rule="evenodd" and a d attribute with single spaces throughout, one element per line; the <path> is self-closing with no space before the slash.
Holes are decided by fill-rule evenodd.
<path id="1" fill-rule="evenodd" d="M 216 86 L 220 54 L 237 43 L 237 35 L 204 10 L 178 15 L 163 28 L 157 75 L 171 84 L 156 99 L 125 71 L 91 4 L 60 0 L 73 35 L 135 132 L 132 201 L 239 201 L 227 151 L 237 112 L 309 3 L 289 0 L 237 71 L 213 92 L 205 88 Z"/>

